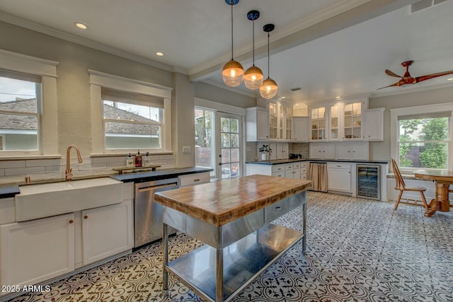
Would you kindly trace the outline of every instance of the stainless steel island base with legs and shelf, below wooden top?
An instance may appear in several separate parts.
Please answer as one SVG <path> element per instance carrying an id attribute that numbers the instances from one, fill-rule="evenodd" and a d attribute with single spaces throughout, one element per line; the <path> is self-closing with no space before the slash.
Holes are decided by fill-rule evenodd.
<path id="1" fill-rule="evenodd" d="M 303 207 L 302 231 L 271 221 Z M 306 248 L 306 191 L 253 211 L 223 226 L 214 226 L 181 211 L 164 207 L 162 289 L 168 293 L 168 272 L 207 301 L 230 301 L 302 240 Z M 168 227 L 177 228 L 205 245 L 168 262 Z"/>

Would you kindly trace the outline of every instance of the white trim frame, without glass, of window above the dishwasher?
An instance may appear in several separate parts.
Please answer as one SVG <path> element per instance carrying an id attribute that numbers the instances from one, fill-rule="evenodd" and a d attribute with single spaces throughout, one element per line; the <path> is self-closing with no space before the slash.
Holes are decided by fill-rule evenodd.
<path id="1" fill-rule="evenodd" d="M 164 122 L 162 123 L 162 149 L 150 149 L 150 152 L 171 152 L 171 91 L 173 88 L 160 86 L 144 81 L 123 78 L 105 74 L 100 71 L 88 69 L 90 75 L 90 95 L 91 95 L 91 155 L 97 154 L 124 154 L 137 150 L 126 149 L 105 149 L 104 129 L 103 129 L 103 100 L 101 88 L 110 88 L 117 91 L 128 93 L 139 93 L 149 95 L 154 98 L 164 99 Z M 147 150 L 144 150 L 147 151 Z"/>

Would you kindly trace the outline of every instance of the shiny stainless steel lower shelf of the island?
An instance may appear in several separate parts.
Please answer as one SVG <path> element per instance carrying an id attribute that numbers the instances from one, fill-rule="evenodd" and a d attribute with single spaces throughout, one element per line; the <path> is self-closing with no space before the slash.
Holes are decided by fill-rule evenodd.
<path id="1" fill-rule="evenodd" d="M 302 238 L 300 231 L 270 223 L 224 248 L 224 301 L 233 298 Z M 172 260 L 166 269 L 197 294 L 216 301 L 216 262 L 217 250 L 202 245 Z"/>

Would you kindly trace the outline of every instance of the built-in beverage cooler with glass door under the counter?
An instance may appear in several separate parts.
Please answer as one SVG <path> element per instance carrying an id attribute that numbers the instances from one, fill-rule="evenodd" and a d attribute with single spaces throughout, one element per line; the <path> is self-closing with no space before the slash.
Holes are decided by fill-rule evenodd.
<path id="1" fill-rule="evenodd" d="M 380 165 L 357 165 L 357 197 L 381 199 Z"/>

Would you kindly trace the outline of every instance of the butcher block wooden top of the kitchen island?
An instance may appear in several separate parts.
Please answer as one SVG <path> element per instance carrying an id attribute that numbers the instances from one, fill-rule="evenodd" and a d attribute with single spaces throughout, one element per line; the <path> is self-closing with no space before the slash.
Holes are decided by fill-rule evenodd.
<path id="1" fill-rule="evenodd" d="M 311 181 L 250 175 L 159 192 L 155 202 L 214 226 L 224 226 L 309 188 Z"/>

